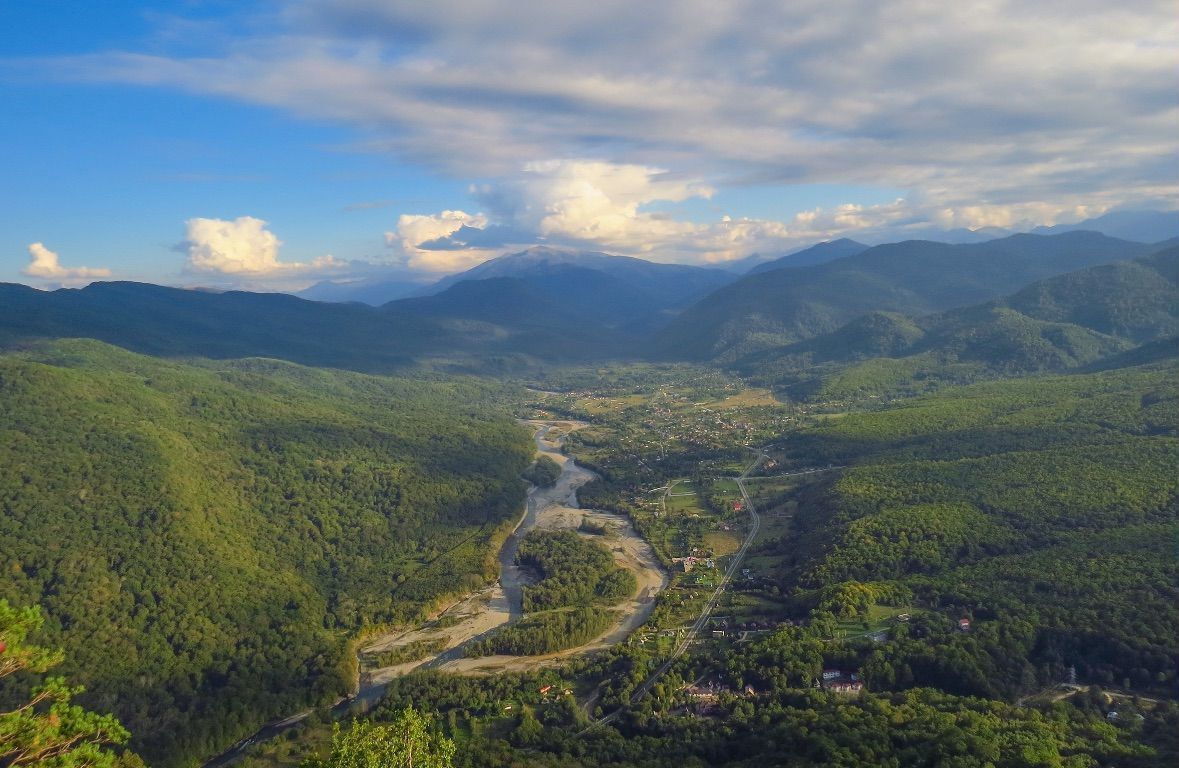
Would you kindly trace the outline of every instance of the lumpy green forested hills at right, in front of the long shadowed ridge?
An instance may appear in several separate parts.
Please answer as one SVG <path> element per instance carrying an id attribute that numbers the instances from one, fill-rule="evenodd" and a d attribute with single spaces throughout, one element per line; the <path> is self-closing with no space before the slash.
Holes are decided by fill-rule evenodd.
<path id="1" fill-rule="evenodd" d="M 872 313 L 735 367 L 796 398 L 844 400 L 1078 368 L 1177 334 L 1179 248 L 1170 248 L 936 315 Z"/>

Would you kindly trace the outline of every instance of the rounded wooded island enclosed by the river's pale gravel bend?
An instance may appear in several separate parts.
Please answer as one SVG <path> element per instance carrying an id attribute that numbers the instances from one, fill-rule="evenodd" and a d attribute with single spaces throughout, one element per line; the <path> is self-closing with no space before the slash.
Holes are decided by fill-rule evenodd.
<path id="1" fill-rule="evenodd" d="M 638 589 L 634 573 L 614 563 L 605 546 L 573 531 L 533 531 L 520 544 L 516 562 L 540 573 L 523 588 L 523 610 L 617 603 Z"/>

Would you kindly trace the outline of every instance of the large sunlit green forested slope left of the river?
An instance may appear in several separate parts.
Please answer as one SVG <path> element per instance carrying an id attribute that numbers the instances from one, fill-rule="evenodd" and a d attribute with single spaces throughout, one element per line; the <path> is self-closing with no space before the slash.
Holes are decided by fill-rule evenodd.
<path id="1" fill-rule="evenodd" d="M 0 597 L 153 763 L 343 694 L 347 637 L 495 575 L 527 435 L 470 381 L 98 342 L 0 356 Z"/>

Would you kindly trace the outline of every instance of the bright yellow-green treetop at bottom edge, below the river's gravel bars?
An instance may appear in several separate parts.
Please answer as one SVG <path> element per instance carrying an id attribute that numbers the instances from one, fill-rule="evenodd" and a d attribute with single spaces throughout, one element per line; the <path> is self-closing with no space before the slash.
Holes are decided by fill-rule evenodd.
<path id="1" fill-rule="evenodd" d="M 454 742 L 430 728 L 428 716 L 407 707 L 388 724 L 367 721 L 341 731 L 336 723 L 331 754 L 303 768 L 450 768 Z"/>

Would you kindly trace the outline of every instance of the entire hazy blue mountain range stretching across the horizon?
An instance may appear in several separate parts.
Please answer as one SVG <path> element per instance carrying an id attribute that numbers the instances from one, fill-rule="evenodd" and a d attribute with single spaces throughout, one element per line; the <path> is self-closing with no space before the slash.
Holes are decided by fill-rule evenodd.
<path id="1" fill-rule="evenodd" d="M 362 372 L 437 359 L 477 368 L 493 359 L 654 357 L 731 365 L 771 382 L 792 380 L 803 365 L 935 349 L 956 362 L 1007 355 L 1012 369 L 1050 369 L 1168 333 L 1168 262 L 1108 265 L 1162 245 L 1086 231 L 961 245 L 844 239 L 739 278 L 534 248 L 381 307 L 129 282 L 55 291 L 4 284 L 0 342 L 84 336 L 147 354 L 268 356 Z M 1000 348 L 1000 339 L 1017 336 L 1048 340 L 1050 349 Z"/>

